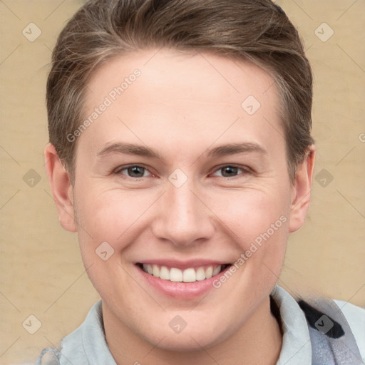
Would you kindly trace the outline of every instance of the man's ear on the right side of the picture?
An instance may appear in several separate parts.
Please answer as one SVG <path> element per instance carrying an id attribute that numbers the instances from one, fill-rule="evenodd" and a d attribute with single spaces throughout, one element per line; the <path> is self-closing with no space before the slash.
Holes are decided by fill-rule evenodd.
<path id="1" fill-rule="evenodd" d="M 302 227 L 307 214 L 312 190 L 314 156 L 316 148 L 311 145 L 302 163 L 297 166 L 292 186 L 292 207 L 290 210 L 289 232 Z"/>

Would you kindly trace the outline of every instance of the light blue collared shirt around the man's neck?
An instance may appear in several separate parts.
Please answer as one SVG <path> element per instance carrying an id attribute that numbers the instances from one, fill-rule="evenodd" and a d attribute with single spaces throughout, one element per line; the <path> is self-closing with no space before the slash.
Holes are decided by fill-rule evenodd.
<path id="1" fill-rule="evenodd" d="M 283 327 L 282 349 L 277 365 L 312 365 L 312 345 L 304 312 L 282 287 L 274 287 L 272 297 L 279 307 Z M 365 365 L 365 309 L 348 302 L 335 303 L 346 317 L 354 334 L 362 357 L 362 362 L 359 359 L 359 365 Z M 40 356 L 36 365 L 58 364 L 52 350 L 44 349 L 43 359 L 41 360 Z M 93 305 L 85 322 L 62 340 L 58 356 L 61 365 L 116 365 L 106 344 L 101 301 Z"/>

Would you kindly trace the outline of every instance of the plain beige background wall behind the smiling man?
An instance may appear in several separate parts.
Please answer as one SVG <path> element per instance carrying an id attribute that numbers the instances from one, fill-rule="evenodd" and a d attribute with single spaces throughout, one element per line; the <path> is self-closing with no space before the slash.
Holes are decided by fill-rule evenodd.
<path id="1" fill-rule="evenodd" d="M 58 225 L 43 165 L 51 49 L 81 3 L 0 0 L 1 364 L 35 359 L 81 324 L 98 299 L 76 235 Z M 290 237 L 279 284 L 365 307 L 365 2 L 277 3 L 299 28 L 314 68 L 318 148 L 312 206 L 306 225 Z M 315 34 L 324 22 L 334 31 L 327 41 Z M 22 34 L 29 23 L 42 32 L 34 42 Z M 328 26 L 317 34 L 327 38 Z M 34 173 L 24 181 L 31 169 L 41 178 L 33 187 L 27 183 Z M 333 176 L 325 187 L 323 169 Z M 22 326 L 31 314 L 41 322 L 35 334 Z"/>

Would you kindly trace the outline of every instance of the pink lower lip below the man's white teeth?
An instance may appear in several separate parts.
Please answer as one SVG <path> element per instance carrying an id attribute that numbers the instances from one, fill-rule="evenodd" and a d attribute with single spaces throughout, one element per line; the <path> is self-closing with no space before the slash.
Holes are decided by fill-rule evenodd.
<path id="1" fill-rule="evenodd" d="M 170 282 L 170 280 L 163 280 L 148 274 L 139 266 L 136 267 L 138 272 L 147 280 L 148 284 L 157 289 L 158 292 L 163 293 L 166 297 L 183 300 L 196 299 L 206 295 L 210 290 L 215 289 L 213 282 L 219 279 L 227 269 L 230 269 L 230 267 L 226 267 L 214 277 L 197 282 Z"/>

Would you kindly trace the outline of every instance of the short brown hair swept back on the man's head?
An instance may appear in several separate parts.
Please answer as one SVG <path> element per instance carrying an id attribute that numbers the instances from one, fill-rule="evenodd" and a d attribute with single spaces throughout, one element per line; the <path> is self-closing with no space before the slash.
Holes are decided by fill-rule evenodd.
<path id="1" fill-rule="evenodd" d="M 313 139 L 312 70 L 302 41 L 270 0 L 91 0 L 58 36 L 47 82 L 50 142 L 71 180 L 89 78 L 97 66 L 144 48 L 210 51 L 251 61 L 277 83 L 289 175 Z"/>

